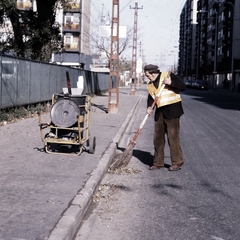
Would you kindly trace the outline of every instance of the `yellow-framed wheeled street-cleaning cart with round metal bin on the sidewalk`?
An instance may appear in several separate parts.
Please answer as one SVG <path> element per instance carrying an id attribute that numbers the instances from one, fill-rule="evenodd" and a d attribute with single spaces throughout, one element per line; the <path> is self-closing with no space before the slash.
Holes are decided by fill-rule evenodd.
<path id="1" fill-rule="evenodd" d="M 89 153 L 94 153 L 96 138 L 90 138 L 90 113 L 90 96 L 53 94 L 51 122 L 43 123 L 39 114 L 40 135 L 45 151 L 80 155 L 85 149 Z"/>

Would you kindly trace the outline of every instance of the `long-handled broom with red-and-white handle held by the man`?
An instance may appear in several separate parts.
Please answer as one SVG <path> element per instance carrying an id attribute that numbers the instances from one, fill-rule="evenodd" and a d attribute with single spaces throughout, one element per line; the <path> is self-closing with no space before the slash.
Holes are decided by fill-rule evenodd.
<path id="1" fill-rule="evenodd" d="M 155 104 L 157 103 L 160 95 L 162 94 L 162 91 L 165 87 L 165 84 L 162 84 L 160 91 L 158 92 L 158 94 L 155 96 L 154 98 L 154 102 L 152 103 L 152 105 L 150 106 L 151 110 L 153 110 Z M 114 161 L 114 163 L 110 166 L 110 170 L 115 170 L 119 167 L 126 167 L 128 165 L 128 163 L 130 162 L 131 158 L 132 158 L 132 153 L 133 153 L 133 148 L 136 145 L 136 139 L 138 137 L 138 135 L 140 134 L 144 124 L 146 123 L 148 117 L 150 116 L 150 114 L 146 114 L 146 116 L 144 117 L 142 123 L 140 124 L 140 127 L 138 128 L 137 132 L 135 133 L 133 139 L 130 141 L 130 143 L 128 144 L 127 148 L 124 150 L 123 153 L 121 153 L 116 160 Z"/>

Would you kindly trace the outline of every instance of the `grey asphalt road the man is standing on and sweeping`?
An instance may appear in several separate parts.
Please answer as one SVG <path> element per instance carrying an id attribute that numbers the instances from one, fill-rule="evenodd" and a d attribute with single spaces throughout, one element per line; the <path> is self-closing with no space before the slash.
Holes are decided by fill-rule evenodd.
<path id="1" fill-rule="evenodd" d="M 146 93 L 147 95 L 147 93 Z M 240 98 L 223 91 L 182 94 L 185 164 L 149 171 L 153 117 L 146 122 L 127 170 L 106 174 L 75 240 L 237 240 L 240 236 Z M 146 111 L 146 97 L 120 147 Z"/>

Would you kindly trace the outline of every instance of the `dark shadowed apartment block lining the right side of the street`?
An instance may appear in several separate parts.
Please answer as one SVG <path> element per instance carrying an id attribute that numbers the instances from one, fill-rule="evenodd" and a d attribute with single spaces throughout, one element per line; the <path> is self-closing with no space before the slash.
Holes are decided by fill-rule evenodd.
<path id="1" fill-rule="evenodd" d="M 194 23 L 194 6 L 197 7 Z M 178 73 L 210 87 L 240 83 L 240 0 L 188 0 L 180 16 Z M 194 52 L 194 54 L 193 54 Z"/>

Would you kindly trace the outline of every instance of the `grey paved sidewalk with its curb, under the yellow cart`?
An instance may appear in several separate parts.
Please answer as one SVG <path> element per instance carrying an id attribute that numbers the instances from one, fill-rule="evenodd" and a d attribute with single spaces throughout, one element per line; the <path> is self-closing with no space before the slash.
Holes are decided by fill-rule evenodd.
<path id="1" fill-rule="evenodd" d="M 0 240 L 72 239 L 141 97 L 120 88 L 118 114 L 107 94 L 92 98 L 94 154 L 45 153 L 37 116 L 0 127 Z"/>

